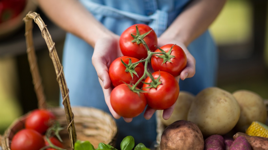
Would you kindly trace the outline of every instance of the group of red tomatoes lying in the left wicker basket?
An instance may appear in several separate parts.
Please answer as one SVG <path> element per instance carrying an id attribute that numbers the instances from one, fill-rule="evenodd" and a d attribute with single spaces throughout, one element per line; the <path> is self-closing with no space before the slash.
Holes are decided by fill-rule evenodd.
<path id="1" fill-rule="evenodd" d="M 47 137 L 45 135 L 56 121 L 55 115 L 46 109 L 36 109 L 29 114 L 24 122 L 23 129 L 19 130 L 13 136 L 10 144 L 11 150 L 56 150 L 50 147 L 52 143 L 56 147 L 63 148 L 62 142 L 55 136 Z M 47 140 L 48 139 L 48 140 Z"/>

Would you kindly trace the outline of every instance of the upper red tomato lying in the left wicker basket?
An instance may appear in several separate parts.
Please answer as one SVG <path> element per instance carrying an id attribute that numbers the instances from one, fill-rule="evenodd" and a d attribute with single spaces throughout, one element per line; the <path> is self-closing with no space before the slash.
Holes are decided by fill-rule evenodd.
<path id="1" fill-rule="evenodd" d="M 53 124 L 56 117 L 49 110 L 36 109 L 29 113 L 25 120 L 25 128 L 33 129 L 43 134 Z"/>

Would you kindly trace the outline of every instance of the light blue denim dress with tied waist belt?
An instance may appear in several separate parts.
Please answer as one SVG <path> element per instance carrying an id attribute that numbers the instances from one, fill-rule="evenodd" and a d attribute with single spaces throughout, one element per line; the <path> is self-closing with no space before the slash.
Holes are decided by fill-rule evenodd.
<path id="1" fill-rule="evenodd" d="M 181 13 L 189 0 L 79 0 L 106 28 L 121 35 L 129 26 L 148 24 L 160 36 Z M 180 90 L 197 94 L 200 90 L 215 86 L 218 54 L 210 33 L 204 32 L 194 40 L 188 50 L 196 59 L 194 77 L 180 81 Z M 98 75 L 92 65 L 94 49 L 82 39 L 67 33 L 63 51 L 64 74 L 70 90 L 72 106 L 89 106 L 109 113 Z M 127 135 L 135 144 L 150 147 L 156 140 L 155 115 L 145 120 L 143 114 L 126 123 L 116 120 L 119 129 L 117 147 Z"/>

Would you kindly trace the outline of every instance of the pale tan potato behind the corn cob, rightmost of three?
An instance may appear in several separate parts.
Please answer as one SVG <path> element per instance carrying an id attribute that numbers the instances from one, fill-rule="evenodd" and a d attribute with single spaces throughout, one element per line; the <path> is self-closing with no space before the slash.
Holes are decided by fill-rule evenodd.
<path id="1" fill-rule="evenodd" d="M 233 96 L 240 106 L 240 117 L 235 125 L 239 132 L 245 132 L 253 121 L 259 121 L 265 124 L 267 110 L 261 96 L 249 90 L 237 90 Z"/>

